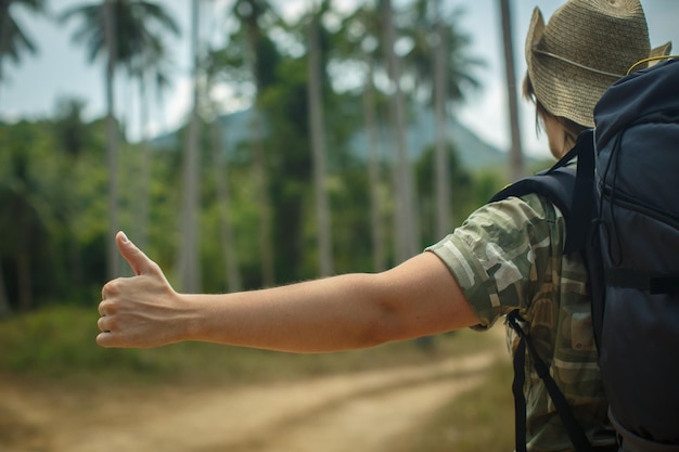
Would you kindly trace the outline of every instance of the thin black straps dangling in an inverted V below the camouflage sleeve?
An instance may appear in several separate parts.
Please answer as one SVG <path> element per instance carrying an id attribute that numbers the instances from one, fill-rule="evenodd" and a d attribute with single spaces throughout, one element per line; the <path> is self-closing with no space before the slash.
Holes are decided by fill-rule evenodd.
<path id="1" fill-rule="evenodd" d="M 573 415 L 573 411 L 566 401 L 565 396 L 556 386 L 554 378 L 550 375 L 549 366 L 542 361 L 537 349 L 533 345 L 530 337 L 523 331 L 518 322 L 524 320 L 518 313 L 518 309 L 507 314 L 507 320 L 512 330 L 518 334 L 520 341 L 516 352 L 514 353 L 514 382 L 512 383 L 512 391 L 514 392 L 514 411 L 515 411 L 515 438 L 516 452 L 526 452 L 526 399 L 524 396 L 524 383 L 526 379 L 525 363 L 526 348 L 533 359 L 533 367 L 538 373 L 540 379 L 545 384 L 549 392 L 556 412 L 566 429 L 566 434 L 577 452 L 590 452 L 592 445 L 585 435 L 585 430 Z"/>

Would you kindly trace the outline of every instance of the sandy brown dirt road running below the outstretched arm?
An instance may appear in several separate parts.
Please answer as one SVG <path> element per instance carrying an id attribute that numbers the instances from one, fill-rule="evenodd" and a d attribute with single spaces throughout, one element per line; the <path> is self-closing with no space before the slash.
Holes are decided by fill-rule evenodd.
<path id="1" fill-rule="evenodd" d="M 266 386 L 100 389 L 87 400 L 4 382 L 0 452 L 386 452 L 482 383 L 499 356 Z"/>

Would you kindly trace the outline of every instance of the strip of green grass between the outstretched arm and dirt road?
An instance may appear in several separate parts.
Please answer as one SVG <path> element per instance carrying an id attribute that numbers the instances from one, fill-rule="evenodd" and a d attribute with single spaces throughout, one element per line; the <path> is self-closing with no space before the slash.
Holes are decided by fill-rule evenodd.
<path id="1" fill-rule="evenodd" d="M 425 362 L 432 357 L 483 350 L 497 338 L 463 331 L 368 350 L 291 354 L 183 343 L 151 350 L 97 346 L 95 309 L 51 307 L 0 321 L 0 374 L 29 378 L 118 379 L 144 383 L 209 380 L 252 383 L 356 372 Z"/>

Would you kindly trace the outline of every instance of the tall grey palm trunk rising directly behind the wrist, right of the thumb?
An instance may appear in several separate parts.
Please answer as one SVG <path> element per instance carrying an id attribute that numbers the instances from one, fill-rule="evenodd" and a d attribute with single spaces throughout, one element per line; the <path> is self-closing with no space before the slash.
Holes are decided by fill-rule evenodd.
<path id="1" fill-rule="evenodd" d="M 181 246 L 179 279 L 184 292 L 200 292 L 197 241 L 198 217 L 198 11 L 200 0 L 192 0 L 193 105 L 187 132 L 183 162 L 183 203 L 181 209 Z"/>

